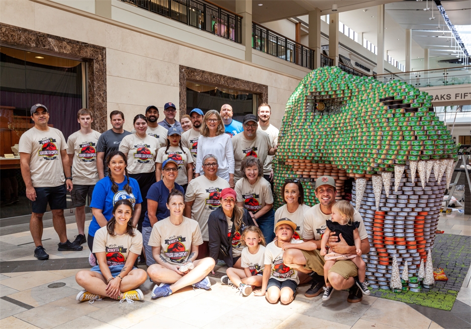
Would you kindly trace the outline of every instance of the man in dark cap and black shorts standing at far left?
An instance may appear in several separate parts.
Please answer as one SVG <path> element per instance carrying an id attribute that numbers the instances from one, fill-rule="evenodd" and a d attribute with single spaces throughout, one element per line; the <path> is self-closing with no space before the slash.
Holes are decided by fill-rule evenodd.
<path id="1" fill-rule="evenodd" d="M 72 190 L 73 184 L 64 135 L 47 125 L 49 112 L 46 106 L 33 105 L 30 113 L 34 127 L 21 135 L 18 151 L 26 197 L 32 201 L 29 227 L 36 246 L 34 256 L 44 260 L 49 258 L 41 241 L 42 218 L 47 204 L 52 212 L 54 229 L 59 235 L 58 250 L 80 251 L 83 247 L 67 239 L 64 208 L 67 208 L 67 191 Z"/>

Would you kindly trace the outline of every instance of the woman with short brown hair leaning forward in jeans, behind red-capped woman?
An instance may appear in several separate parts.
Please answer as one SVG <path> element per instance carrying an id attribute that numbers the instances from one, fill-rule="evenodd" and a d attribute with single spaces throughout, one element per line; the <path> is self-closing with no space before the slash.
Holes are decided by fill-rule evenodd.
<path id="1" fill-rule="evenodd" d="M 242 160 L 242 179 L 236 183 L 237 206 L 248 210 L 256 226 L 260 228 L 267 244 L 273 241 L 274 212 L 273 193 L 268 180 L 263 178 L 260 159 L 249 156 Z"/>

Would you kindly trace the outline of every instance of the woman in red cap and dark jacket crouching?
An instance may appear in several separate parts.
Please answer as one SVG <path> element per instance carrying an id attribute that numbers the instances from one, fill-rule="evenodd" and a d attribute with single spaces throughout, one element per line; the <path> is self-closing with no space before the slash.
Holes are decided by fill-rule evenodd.
<path id="1" fill-rule="evenodd" d="M 217 261 L 224 260 L 229 267 L 239 268 L 242 242 L 240 236 L 249 226 L 255 225 L 248 211 L 236 205 L 236 191 L 221 191 L 221 207 L 209 215 L 209 254 Z"/>

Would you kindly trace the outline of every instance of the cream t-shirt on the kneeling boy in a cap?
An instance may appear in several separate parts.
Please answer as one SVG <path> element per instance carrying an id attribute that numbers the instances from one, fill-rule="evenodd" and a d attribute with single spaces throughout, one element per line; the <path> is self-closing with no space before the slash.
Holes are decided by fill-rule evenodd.
<path id="1" fill-rule="evenodd" d="M 292 244 L 300 244 L 301 240 L 291 239 Z M 265 266 L 271 266 L 271 278 L 278 281 L 293 280 L 299 284 L 298 271 L 283 263 L 283 249 L 276 246 L 276 241 L 270 242 L 265 248 Z"/>

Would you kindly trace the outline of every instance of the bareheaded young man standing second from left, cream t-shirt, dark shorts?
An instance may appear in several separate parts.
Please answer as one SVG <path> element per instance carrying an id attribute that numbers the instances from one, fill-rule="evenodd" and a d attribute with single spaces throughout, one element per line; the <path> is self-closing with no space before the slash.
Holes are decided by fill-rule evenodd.
<path id="1" fill-rule="evenodd" d="M 67 139 L 67 154 L 72 165 L 74 189 L 70 191 L 72 206 L 75 207 L 75 221 L 79 234 L 73 242 L 80 246 L 87 242 L 85 238 L 85 205 L 92 202 L 95 184 L 100 179 L 97 169 L 97 143 L 100 133 L 92 129 L 93 115 L 86 108 L 77 113 L 80 130 Z"/>

